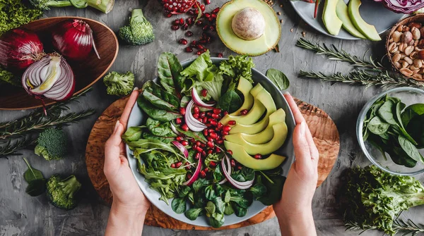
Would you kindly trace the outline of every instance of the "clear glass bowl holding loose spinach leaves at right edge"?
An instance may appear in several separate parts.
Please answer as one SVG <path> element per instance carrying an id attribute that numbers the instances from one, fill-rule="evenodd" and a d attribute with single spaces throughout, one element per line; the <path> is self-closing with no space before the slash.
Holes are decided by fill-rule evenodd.
<path id="1" fill-rule="evenodd" d="M 386 153 L 387 160 L 384 159 L 382 153 L 370 142 L 365 141 L 363 139 L 363 123 L 365 120 L 365 116 L 367 115 L 367 111 L 370 109 L 372 104 L 375 103 L 381 97 L 384 97 L 386 94 L 389 97 L 397 97 L 401 99 L 401 101 L 406 104 L 406 107 L 411 104 L 424 103 L 424 91 L 421 89 L 416 89 L 412 87 L 401 87 L 396 89 L 390 89 L 386 92 L 382 92 L 381 94 L 377 94 L 375 97 L 372 97 L 370 101 L 365 104 L 362 111 L 358 116 L 358 121 L 356 123 L 356 137 L 358 138 L 358 142 L 360 148 L 364 152 L 365 156 L 378 168 L 394 174 L 394 175 L 417 175 L 419 173 L 424 173 L 424 163 L 418 161 L 416 166 L 413 168 L 408 168 L 406 166 L 400 166 L 391 161 L 389 154 Z M 424 156 L 424 149 L 419 149 L 420 154 Z"/>

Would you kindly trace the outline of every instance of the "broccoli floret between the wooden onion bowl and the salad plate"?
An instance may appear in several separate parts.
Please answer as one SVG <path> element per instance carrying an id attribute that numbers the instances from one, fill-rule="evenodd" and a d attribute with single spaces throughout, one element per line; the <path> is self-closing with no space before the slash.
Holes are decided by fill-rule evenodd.
<path id="1" fill-rule="evenodd" d="M 131 71 L 127 73 L 117 73 L 112 71 L 103 78 L 107 86 L 107 94 L 125 96 L 134 89 L 134 74 Z"/>

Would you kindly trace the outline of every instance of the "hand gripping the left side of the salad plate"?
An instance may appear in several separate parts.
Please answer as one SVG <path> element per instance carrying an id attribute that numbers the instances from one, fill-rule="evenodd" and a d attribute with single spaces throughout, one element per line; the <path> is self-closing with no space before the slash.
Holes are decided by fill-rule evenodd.
<path id="1" fill-rule="evenodd" d="M 141 192 L 139 185 L 131 173 L 128 160 L 126 159 L 125 144 L 121 136 L 126 130 L 131 109 L 139 96 L 139 89 L 135 88 L 131 93 L 124 108 L 121 118 L 114 127 L 114 132 L 105 144 L 105 172 L 110 191 L 113 195 L 113 204 L 122 209 L 129 209 L 146 213 L 150 202 Z"/>

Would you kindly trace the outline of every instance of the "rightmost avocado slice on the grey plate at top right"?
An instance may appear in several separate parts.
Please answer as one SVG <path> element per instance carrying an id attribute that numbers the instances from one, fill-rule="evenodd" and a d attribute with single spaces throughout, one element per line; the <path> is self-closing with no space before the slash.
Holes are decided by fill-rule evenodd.
<path id="1" fill-rule="evenodd" d="M 365 20 L 360 16 L 360 4 L 360 0 L 351 0 L 349 2 L 348 13 L 353 25 L 355 25 L 356 29 L 359 30 L 363 35 L 365 35 L 367 39 L 370 39 L 372 41 L 382 40 L 382 38 L 379 37 L 377 30 L 375 30 L 374 25 L 366 23 Z"/>

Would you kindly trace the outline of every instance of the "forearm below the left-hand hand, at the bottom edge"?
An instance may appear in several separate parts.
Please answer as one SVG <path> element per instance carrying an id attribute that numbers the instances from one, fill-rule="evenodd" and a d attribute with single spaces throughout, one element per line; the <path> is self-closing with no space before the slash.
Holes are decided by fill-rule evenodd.
<path id="1" fill-rule="evenodd" d="M 140 236 L 145 217 L 146 211 L 112 202 L 105 235 Z"/>

